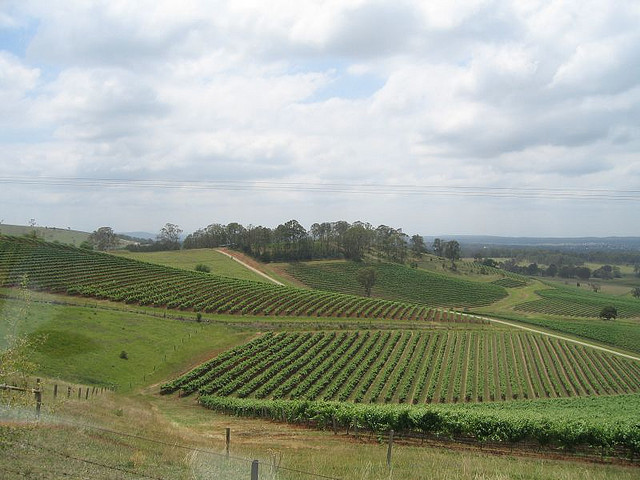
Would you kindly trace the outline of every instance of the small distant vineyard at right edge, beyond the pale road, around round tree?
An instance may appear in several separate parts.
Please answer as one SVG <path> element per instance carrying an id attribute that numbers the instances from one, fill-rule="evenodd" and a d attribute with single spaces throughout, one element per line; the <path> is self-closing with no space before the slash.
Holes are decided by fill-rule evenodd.
<path id="1" fill-rule="evenodd" d="M 603 307 L 613 305 L 618 310 L 618 317 L 620 318 L 640 317 L 640 300 L 635 298 L 621 298 L 602 293 L 569 290 L 567 288 L 552 288 L 540 290 L 536 293 L 542 298 L 522 303 L 516 307 L 516 310 L 597 318 Z"/>

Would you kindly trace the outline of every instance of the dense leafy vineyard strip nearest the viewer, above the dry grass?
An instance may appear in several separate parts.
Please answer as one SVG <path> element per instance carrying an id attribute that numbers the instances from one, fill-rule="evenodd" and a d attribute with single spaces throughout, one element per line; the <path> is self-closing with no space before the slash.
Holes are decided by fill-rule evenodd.
<path id="1" fill-rule="evenodd" d="M 605 454 L 637 458 L 640 428 L 634 413 L 640 408 L 640 395 L 601 398 L 604 401 L 588 398 L 408 406 L 209 395 L 200 397 L 200 403 L 229 415 L 305 423 L 325 429 L 365 429 L 382 434 L 393 429 L 467 441 L 473 438 L 478 442 L 503 442 L 509 446 L 522 443 L 525 449 L 560 448 L 565 452 L 583 446 L 592 451 L 597 449 L 595 452 L 601 458 Z"/>

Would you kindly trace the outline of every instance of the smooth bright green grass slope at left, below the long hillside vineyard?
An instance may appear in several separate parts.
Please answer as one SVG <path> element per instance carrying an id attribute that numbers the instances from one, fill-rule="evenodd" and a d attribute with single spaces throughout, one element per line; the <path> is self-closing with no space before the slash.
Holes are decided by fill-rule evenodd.
<path id="1" fill-rule="evenodd" d="M 18 300 L 0 301 L 13 316 Z M 253 335 L 251 329 L 180 322 L 144 314 L 89 307 L 33 303 L 19 333 L 40 338 L 33 356 L 38 373 L 128 391 L 175 375 L 194 359 L 229 348 Z M 8 322 L 0 324 L 3 347 Z M 120 358 L 126 351 L 128 360 Z"/>

